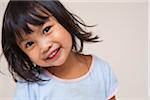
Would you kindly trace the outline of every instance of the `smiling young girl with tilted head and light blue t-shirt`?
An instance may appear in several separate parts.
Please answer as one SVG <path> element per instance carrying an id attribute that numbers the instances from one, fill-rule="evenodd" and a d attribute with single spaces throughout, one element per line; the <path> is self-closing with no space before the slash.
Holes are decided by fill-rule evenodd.
<path id="1" fill-rule="evenodd" d="M 56 0 L 8 3 L 2 48 L 17 83 L 14 100 L 115 100 L 109 64 L 82 54 L 83 43 L 98 37 L 81 26 L 90 27 Z"/>

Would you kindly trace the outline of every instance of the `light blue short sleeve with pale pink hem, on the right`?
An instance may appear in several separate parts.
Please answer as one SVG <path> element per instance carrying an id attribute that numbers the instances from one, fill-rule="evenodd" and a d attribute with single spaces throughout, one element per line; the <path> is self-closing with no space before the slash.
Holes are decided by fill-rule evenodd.
<path id="1" fill-rule="evenodd" d="M 108 63 L 105 64 L 104 77 L 105 77 L 105 86 L 106 86 L 105 87 L 106 97 L 107 97 L 107 100 L 109 100 L 117 92 L 118 81 L 117 81 L 116 75 L 114 74 L 111 66 Z"/>

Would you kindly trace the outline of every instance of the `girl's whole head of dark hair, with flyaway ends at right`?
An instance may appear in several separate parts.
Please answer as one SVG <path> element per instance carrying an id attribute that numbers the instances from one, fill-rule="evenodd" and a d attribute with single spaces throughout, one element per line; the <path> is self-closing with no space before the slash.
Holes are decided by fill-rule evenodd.
<path id="1" fill-rule="evenodd" d="M 43 16 L 40 12 L 47 16 Z M 98 42 L 98 36 L 91 37 L 92 32 L 86 32 L 83 27 L 91 27 L 75 14 L 69 12 L 59 1 L 9 1 L 5 10 L 2 26 L 2 49 L 8 61 L 9 71 L 15 81 L 19 79 L 27 82 L 38 82 L 42 68 L 34 67 L 29 57 L 19 48 L 16 40 L 21 39 L 21 32 L 31 33 L 28 23 L 42 25 L 53 16 L 71 34 L 72 49 L 78 54 L 83 50 L 84 42 Z M 80 45 L 77 44 L 79 40 Z"/>

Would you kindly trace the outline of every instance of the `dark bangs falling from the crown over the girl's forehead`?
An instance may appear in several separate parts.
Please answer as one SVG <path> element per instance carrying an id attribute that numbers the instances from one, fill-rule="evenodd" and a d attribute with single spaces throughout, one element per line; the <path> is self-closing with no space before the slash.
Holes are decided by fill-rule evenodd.
<path id="1" fill-rule="evenodd" d="M 10 7 L 12 18 L 10 19 L 10 27 L 14 30 L 16 39 L 22 40 L 22 34 L 30 34 L 33 30 L 28 24 L 34 26 L 43 25 L 51 14 L 47 9 L 43 8 L 38 2 L 24 3 L 19 1 L 16 6 Z M 16 14 L 16 15 L 13 15 Z"/>

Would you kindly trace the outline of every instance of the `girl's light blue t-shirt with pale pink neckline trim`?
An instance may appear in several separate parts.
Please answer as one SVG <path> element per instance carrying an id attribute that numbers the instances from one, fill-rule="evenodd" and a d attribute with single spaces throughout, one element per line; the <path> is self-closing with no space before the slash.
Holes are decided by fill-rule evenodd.
<path id="1" fill-rule="evenodd" d="M 17 82 L 14 100 L 108 100 L 118 87 L 109 64 L 96 56 L 92 56 L 88 73 L 77 79 L 47 73 L 41 76 L 50 80 L 41 84 Z"/>

